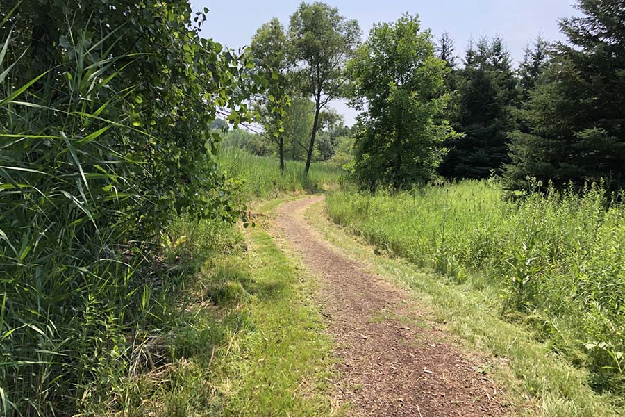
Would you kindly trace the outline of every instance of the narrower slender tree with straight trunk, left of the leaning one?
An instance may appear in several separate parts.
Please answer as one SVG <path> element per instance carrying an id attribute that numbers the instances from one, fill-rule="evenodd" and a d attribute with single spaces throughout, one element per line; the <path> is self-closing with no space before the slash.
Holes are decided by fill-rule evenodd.
<path id="1" fill-rule="evenodd" d="M 257 101 L 257 111 L 265 132 L 278 145 L 280 170 L 284 171 L 284 117 L 290 106 L 290 44 L 276 18 L 258 28 L 252 38 L 251 52 L 260 61 L 256 70 L 267 80 L 265 95 Z"/>

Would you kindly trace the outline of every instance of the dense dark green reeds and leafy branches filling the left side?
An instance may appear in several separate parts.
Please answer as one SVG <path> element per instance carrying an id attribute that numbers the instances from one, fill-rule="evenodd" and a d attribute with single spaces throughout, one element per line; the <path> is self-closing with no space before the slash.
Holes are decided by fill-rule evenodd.
<path id="1" fill-rule="evenodd" d="M 179 284 L 151 279 L 161 236 L 241 213 L 210 125 L 248 116 L 253 63 L 199 38 L 182 0 L 8 1 L 0 19 L 0 407 L 119 409 Z"/>

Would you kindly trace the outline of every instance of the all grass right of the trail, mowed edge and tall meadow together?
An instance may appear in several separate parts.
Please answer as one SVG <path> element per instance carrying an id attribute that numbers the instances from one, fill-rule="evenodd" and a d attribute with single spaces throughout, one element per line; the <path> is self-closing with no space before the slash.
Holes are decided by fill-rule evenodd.
<path id="1" fill-rule="evenodd" d="M 501 197 L 496 183 L 468 181 L 396 195 L 335 193 L 327 211 L 409 261 L 385 268 L 470 345 L 506 357 L 517 391 L 542 414 L 617 414 L 610 401 L 622 404 L 622 359 L 607 351 L 623 350 L 624 208 L 606 212 L 596 189 L 519 204 Z"/>

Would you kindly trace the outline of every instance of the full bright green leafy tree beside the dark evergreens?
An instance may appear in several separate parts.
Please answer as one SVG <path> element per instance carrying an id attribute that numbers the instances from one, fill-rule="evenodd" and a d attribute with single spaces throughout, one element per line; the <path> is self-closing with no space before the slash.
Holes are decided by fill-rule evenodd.
<path id="1" fill-rule="evenodd" d="M 433 179 L 441 158 L 438 145 L 454 133 L 442 119 L 449 69 L 435 56 L 430 31 L 422 31 L 419 18 L 411 15 L 376 24 L 349 70 L 356 96 L 367 101 L 355 145 L 358 183 L 400 188 Z"/>

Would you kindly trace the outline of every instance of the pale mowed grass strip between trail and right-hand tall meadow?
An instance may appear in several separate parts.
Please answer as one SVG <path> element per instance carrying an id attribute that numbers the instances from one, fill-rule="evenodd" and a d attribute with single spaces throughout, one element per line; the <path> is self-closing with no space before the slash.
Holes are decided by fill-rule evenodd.
<path id="1" fill-rule="evenodd" d="M 423 270 L 406 259 L 374 254 L 363 238 L 332 224 L 322 204 L 308 212 L 313 225 L 348 256 L 364 261 L 374 273 L 406 286 L 431 311 L 437 325 L 460 336 L 462 343 L 492 357 L 485 372 L 507 388 L 512 410 L 520 416 L 621 416 L 610 398 L 594 392 L 587 371 L 572 366 L 522 325 L 503 320 L 497 292 L 481 291 L 474 282 L 450 284 L 443 275 Z M 348 230 L 351 230 L 348 229 Z M 406 382 L 408 383 L 408 382 Z"/>

